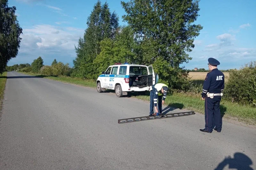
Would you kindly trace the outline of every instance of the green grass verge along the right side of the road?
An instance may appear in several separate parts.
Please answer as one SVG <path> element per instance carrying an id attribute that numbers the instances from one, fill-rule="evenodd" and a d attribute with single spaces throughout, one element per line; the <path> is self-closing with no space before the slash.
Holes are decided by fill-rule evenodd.
<path id="1" fill-rule="evenodd" d="M 93 80 L 84 80 L 81 78 L 71 78 L 71 77 L 65 77 L 65 76 L 60 76 L 60 77 L 43 76 L 43 75 L 34 74 L 34 73 L 23 73 L 23 74 L 29 74 L 33 76 L 48 78 L 51 80 L 96 88 L 96 82 Z M 201 83 L 201 82 L 198 81 L 197 83 Z M 114 90 L 110 90 L 110 92 L 114 93 Z M 146 92 L 145 95 L 132 93 L 131 97 L 135 97 L 145 101 L 150 100 L 149 92 Z M 180 109 L 189 109 L 189 110 L 193 110 L 195 112 L 204 114 L 204 101 L 201 99 L 200 94 L 191 94 L 191 93 L 173 93 L 171 95 L 168 94 L 165 101 L 165 105 L 175 107 L 175 108 L 180 108 Z M 256 125 L 256 108 L 252 108 L 248 105 L 232 103 L 231 101 L 227 101 L 223 98 L 221 100 L 221 114 L 224 116 L 224 118 L 228 118 L 228 119 L 236 118 L 236 120 L 240 122 Z"/>

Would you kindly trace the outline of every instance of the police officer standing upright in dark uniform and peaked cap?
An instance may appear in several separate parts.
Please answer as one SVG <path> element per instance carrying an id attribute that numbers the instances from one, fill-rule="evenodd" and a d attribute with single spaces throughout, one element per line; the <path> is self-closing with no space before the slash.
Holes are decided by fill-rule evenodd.
<path id="1" fill-rule="evenodd" d="M 217 65 L 220 64 L 217 59 L 209 58 L 208 62 L 210 72 L 207 73 L 204 80 L 202 93 L 202 100 L 205 100 L 205 128 L 200 129 L 200 131 L 211 133 L 215 124 L 214 130 L 221 132 L 220 101 L 224 89 L 224 74 L 217 69 Z"/>

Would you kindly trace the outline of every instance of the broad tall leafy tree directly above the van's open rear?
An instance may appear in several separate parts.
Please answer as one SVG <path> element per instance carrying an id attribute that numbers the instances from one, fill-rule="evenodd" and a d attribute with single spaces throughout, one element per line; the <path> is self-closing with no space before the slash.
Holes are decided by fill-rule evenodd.
<path id="1" fill-rule="evenodd" d="M 127 15 L 123 19 L 136 33 L 142 47 L 142 58 L 154 62 L 163 57 L 170 66 L 188 62 L 195 45 L 194 38 L 202 30 L 196 21 L 199 0 L 131 0 L 121 1 Z"/>

